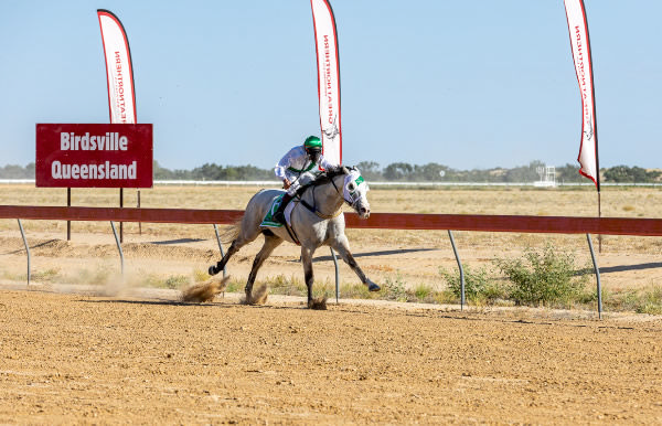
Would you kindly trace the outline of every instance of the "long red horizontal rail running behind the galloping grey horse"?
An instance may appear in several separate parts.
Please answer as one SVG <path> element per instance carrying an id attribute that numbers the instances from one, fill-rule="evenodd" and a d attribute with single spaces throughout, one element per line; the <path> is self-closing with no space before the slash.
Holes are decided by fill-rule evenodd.
<path id="1" fill-rule="evenodd" d="M 232 224 L 243 210 L 66 207 L 0 205 L 0 219 Z M 662 219 L 527 216 L 491 214 L 345 213 L 346 227 L 372 230 L 453 230 L 547 234 L 662 236 Z"/>

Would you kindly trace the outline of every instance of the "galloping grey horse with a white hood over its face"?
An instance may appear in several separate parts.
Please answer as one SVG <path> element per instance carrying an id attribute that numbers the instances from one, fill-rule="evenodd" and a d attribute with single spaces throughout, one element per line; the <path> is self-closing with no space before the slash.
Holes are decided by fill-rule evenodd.
<path id="1" fill-rule="evenodd" d="M 335 249 L 343 260 L 356 273 L 359 279 L 367 286 L 370 291 L 378 291 L 380 286 L 370 280 L 356 264 L 350 252 L 350 243 L 345 236 L 344 215 L 342 205 L 351 205 L 362 219 L 370 216 L 370 204 L 366 199 L 367 184 L 355 168 L 341 167 L 318 175 L 314 180 L 303 184 L 299 190 L 300 200 L 292 200 L 295 204 L 288 230 L 281 227 L 260 226 L 273 201 L 282 194 L 280 190 L 261 190 L 256 193 L 246 211 L 233 230 L 231 230 L 232 245 L 223 258 L 214 266 L 210 266 L 210 275 L 223 270 L 229 258 L 244 245 L 253 242 L 259 234 L 265 236 L 265 243 L 255 256 L 253 268 L 246 283 L 246 301 L 252 302 L 253 284 L 257 271 L 274 249 L 284 241 L 301 245 L 301 263 L 306 286 L 308 287 L 308 307 L 316 308 L 312 299 L 312 255 L 314 251 L 328 245 Z M 298 239 L 298 242 L 296 241 Z"/>

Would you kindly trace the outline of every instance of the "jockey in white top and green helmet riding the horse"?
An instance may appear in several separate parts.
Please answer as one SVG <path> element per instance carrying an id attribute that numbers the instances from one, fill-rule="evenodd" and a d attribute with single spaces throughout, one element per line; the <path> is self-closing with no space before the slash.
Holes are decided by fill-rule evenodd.
<path id="1" fill-rule="evenodd" d="M 282 201 L 274 220 L 285 225 L 285 206 L 295 196 L 297 190 L 301 187 L 299 178 L 306 172 L 314 173 L 322 167 L 327 170 L 332 169 L 331 164 L 322 155 L 322 141 L 317 136 L 309 136 L 303 145 L 290 149 L 276 164 L 274 172 L 282 181 L 282 188 L 287 190 L 282 195 Z"/>

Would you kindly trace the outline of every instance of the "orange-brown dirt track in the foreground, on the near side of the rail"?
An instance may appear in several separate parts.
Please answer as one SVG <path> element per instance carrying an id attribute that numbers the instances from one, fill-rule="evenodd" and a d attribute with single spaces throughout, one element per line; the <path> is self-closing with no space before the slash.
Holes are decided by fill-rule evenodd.
<path id="1" fill-rule="evenodd" d="M 0 423 L 662 423 L 662 321 L 4 286 Z"/>

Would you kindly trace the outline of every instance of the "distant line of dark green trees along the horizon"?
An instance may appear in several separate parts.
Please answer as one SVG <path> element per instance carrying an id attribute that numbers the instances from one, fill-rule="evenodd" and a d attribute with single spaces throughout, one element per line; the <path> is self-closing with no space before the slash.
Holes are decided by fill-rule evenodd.
<path id="1" fill-rule="evenodd" d="M 485 182 L 519 183 L 533 182 L 541 179 L 538 168 L 542 161 L 532 161 L 527 166 L 511 169 L 473 169 L 459 170 L 448 166 L 430 162 L 410 164 L 393 162 L 381 167 L 374 161 L 362 161 L 356 167 L 369 181 L 388 182 Z M 153 162 L 154 180 L 196 180 L 196 181 L 254 181 L 276 180 L 273 169 L 260 169 L 255 166 L 218 166 L 205 163 L 192 170 L 170 170 Z M 34 163 L 25 167 L 7 164 L 0 167 L 0 179 L 34 179 Z M 567 163 L 556 167 L 557 183 L 586 183 L 588 180 L 578 173 L 578 166 Z M 600 181 L 607 183 L 655 183 L 662 182 L 662 170 L 647 170 L 640 167 L 616 166 L 600 169 Z"/>

